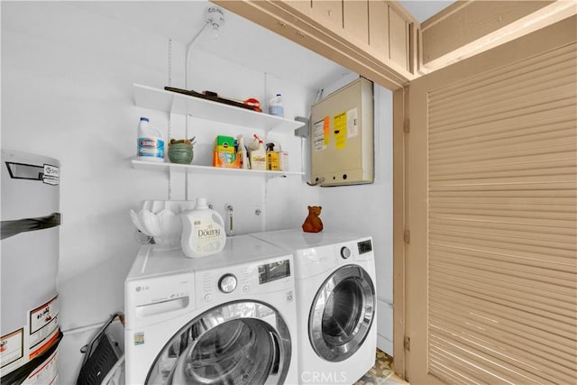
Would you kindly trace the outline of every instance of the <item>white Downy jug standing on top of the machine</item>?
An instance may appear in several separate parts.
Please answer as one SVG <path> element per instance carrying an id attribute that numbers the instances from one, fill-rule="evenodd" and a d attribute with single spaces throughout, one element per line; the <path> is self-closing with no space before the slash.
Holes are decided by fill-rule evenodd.
<path id="1" fill-rule="evenodd" d="M 206 257 L 224 249 L 223 217 L 206 206 L 206 198 L 197 198 L 197 206 L 182 214 L 180 243 L 188 258 Z"/>

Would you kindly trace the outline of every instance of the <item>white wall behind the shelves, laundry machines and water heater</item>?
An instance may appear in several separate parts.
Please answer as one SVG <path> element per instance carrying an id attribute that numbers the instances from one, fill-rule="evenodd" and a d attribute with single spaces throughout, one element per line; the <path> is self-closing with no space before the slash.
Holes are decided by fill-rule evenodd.
<path id="1" fill-rule="evenodd" d="M 1 6 L 2 147 L 61 162 L 58 280 L 65 337 L 60 382 L 71 383 L 78 375 L 80 345 L 87 343 L 95 325 L 124 309 L 124 277 L 139 247 L 129 210 L 145 199 L 169 198 L 168 174 L 134 170 L 130 162 L 140 116 L 149 116 L 167 132 L 169 116 L 133 105 L 132 84 L 168 84 L 169 42 L 91 14 L 74 2 L 2 2 Z M 172 85 L 182 87 L 184 47 L 174 41 L 172 58 Z M 316 97 L 316 90 L 194 48 L 191 63 L 190 84 L 195 88 L 261 101 L 279 91 L 289 118 L 307 116 L 308 105 Z M 173 180 L 174 194 L 208 197 L 221 214 L 224 204 L 233 204 L 236 234 L 298 227 L 307 205 L 321 205 L 328 227 L 354 228 L 373 236 L 379 298 L 391 302 L 389 93 L 381 90 L 378 99 L 385 111 L 375 127 L 384 131 L 377 134 L 374 185 L 321 189 L 307 187 L 300 177 L 189 175 Z M 185 127 L 184 118 L 173 117 L 174 133 L 187 134 Z M 202 149 L 210 148 L 215 130 L 237 132 L 235 127 L 213 128 L 209 122 L 189 119 L 188 134 L 197 134 L 200 141 L 195 162 L 207 161 Z M 291 168 L 301 167 L 300 138 L 270 138 L 289 151 Z M 254 215 L 255 208 L 263 214 Z M 349 222 L 359 212 L 376 215 L 366 222 Z M 392 327 L 390 334 L 384 334 L 392 335 Z"/>

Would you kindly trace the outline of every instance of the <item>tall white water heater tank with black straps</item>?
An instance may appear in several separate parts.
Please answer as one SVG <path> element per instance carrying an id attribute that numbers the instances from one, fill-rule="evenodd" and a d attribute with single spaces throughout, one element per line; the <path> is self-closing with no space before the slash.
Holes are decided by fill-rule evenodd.
<path id="1" fill-rule="evenodd" d="M 0 382 L 58 382 L 60 162 L 2 149 Z"/>

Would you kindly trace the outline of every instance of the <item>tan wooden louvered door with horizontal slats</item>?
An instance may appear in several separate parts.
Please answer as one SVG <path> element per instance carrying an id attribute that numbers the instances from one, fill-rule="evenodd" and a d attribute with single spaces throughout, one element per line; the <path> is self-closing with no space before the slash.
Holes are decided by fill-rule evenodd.
<path id="1" fill-rule="evenodd" d="M 411 82 L 411 384 L 577 379 L 575 18 Z"/>

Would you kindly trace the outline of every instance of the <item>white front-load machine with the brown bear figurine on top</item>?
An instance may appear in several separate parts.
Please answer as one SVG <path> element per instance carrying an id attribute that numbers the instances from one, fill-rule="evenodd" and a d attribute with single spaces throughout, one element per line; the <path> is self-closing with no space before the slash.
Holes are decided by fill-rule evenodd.
<path id="1" fill-rule="evenodd" d="M 294 252 L 300 384 L 352 384 L 375 362 L 371 237 L 331 231 L 251 234 Z"/>

